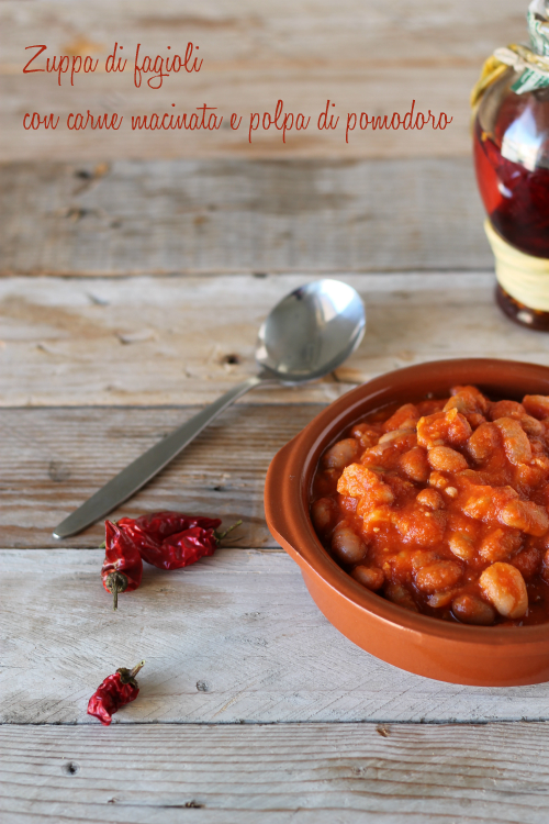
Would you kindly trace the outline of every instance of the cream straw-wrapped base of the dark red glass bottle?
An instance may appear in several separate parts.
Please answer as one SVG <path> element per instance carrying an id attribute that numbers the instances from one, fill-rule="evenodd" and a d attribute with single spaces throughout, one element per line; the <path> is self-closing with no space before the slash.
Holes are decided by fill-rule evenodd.
<path id="1" fill-rule="evenodd" d="M 484 231 L 495 257 L 497 303 L 523 326 L 549 332 L 549 258 L 519 252 L 488 219 Z"/>

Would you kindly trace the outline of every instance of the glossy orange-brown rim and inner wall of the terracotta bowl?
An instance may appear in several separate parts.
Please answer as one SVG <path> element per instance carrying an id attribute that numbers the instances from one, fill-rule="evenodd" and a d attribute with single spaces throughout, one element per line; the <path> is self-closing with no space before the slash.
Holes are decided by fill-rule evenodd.
<path id="1" fill-rule="evenodd" d="M 309 499 L 312 478 L 322 453 L 365 414 L 394 401 L 402 400 L 405 403 L 425 398 L 425 392 L 417 388 L 414 391 L 416 381 L 422 385 L 433 381 L 432 391 L 438 396 L 444 396 L 445 388 L 449 390 L 451 386 L 463 383 L 472 383 L 488 394 L 501 394 L 505 399 L 520 396 L 522 400 L 525 394 L 549 394 L 548 367 L 495 358 L 435 360 L 374 378 L 347 392 L 317 414 L 283 447 L 281 453 L 285 453 L 285 461 L 282 457 L 282 464 L 271 471 L 277 460 L 274 458 L 267 475 L 265 490 L 268 526 L 287 548 L 293 550 L 289 554 L 305 574 L 315 572 L 328 583 L 336 600 L 337 595 L 343 595 L 365 612 L 372 613 L 395 627 L 466 644 L 490 643 L 494 646 L 524 647 L 539 642 L 547 643 L 549 622 L 535 626 L 481 627 L 452 624 L 410 612 L 355 581 L 328 555 L 317 538 L 309 514 Z M 528 387 L 531 391 L 528 391 Z M 282 477 L 277 471 L 280 469 L 283 469 Z M 282 515 L 280 509 L 277 514 L 277 505 L 283 510 Z M 281 531 L 277 526 L 281 526 Z"/>

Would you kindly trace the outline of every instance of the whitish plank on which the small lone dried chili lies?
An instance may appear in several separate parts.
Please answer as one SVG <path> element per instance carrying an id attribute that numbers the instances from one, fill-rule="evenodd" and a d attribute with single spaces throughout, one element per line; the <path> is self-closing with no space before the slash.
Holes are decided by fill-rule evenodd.
<path id="1" fill-rule="evenodd" d="M 116 613 L 102 559 L 0 552 L 2 722 L 94 724 L 93 690 L 141 658 L 142 692 L 121 724 L 549 720 L 549 683 L 457 687 L 363 653 L 324 619 L 282 552 L 221 549 L 173 572 L 147 566 Z"/>

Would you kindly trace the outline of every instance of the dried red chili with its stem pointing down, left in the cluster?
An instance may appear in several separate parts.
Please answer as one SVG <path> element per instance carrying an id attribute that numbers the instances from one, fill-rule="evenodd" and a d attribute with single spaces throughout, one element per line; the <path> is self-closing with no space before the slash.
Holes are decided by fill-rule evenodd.
<path id="1" fill-rule="evenodd" d="M 113 524 L 104 522 L 105 554 L 101 568 L 103 587 L 113 595 L 113 609 L 119 606 L 119 592 L 137 589 L 143 575 L 143 560 L 135 543 Z"/>

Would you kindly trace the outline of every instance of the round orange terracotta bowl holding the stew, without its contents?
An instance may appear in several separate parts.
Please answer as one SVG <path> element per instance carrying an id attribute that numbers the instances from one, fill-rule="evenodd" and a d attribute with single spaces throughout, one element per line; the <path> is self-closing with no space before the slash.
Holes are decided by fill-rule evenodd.
<path id="1" fill-rule="evenodd" d="M 549 394 L 549 368 L 511 360 L 438 360 L 383 375 L 323 410 L 274 456 L 265 487 L 267 523 L 301 568 L 316 605 L 347 638 L 401 669 L 481 687 L 549 680 L 549 624 L 481 627 L 408 612 L 357 583 L 330 558 L 309 515 L 324 449 L 355 421 L 389 403 L 444 397 L 473 383 L 492 398 Z"/>

